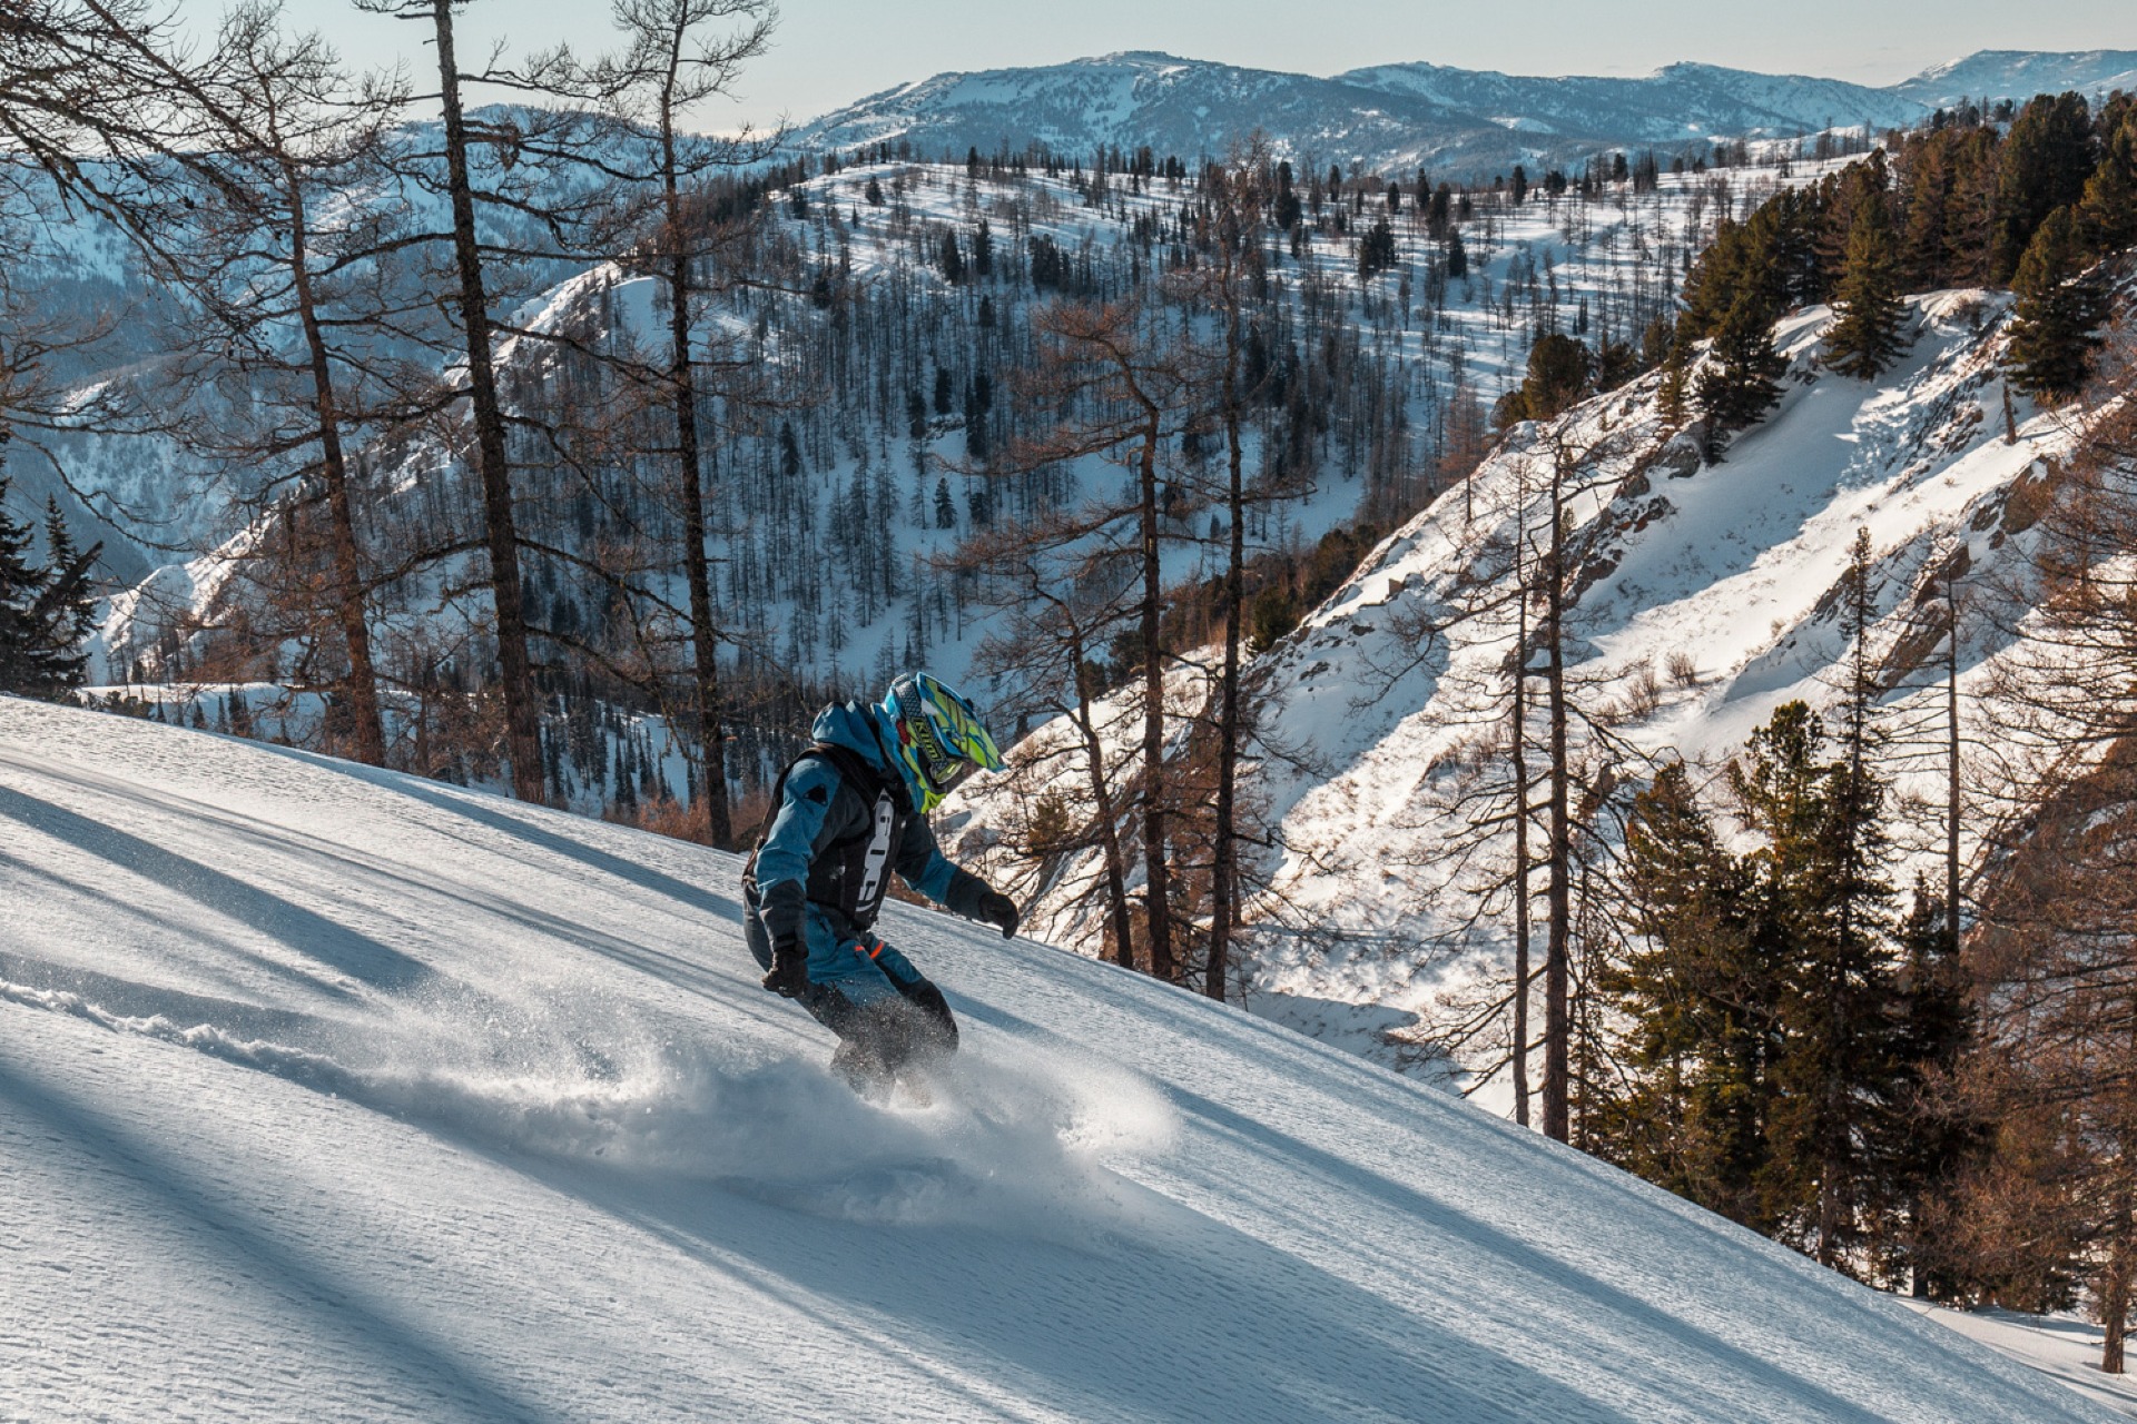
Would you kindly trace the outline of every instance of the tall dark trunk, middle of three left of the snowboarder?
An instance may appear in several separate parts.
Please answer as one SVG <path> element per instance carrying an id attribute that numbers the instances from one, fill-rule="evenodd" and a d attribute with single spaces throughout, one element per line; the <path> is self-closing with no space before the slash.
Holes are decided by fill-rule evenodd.
<path id="1" fill-rule="evenodd" d="M 483 480 L 483 527 L 489 591 L 498 608 L 498 677 L 504 692 L 504 749 L 513 794 L 547 801 L 541 756 L 541 709 L 528 660 L 526 608 L 519 606 L 519 527 L 513 478 L 504 455 L 504 410 L 489 352 L 489 299 L 474 235 L 474 188 L 468 179 L 468 124 L 459 107 L 459 62 L 453 58 L 453 0 L 432 0 L 438 38 L 438 105 L 444 115 L 447 190 L 453 201 L 453 265 L 459 275 L 459 318 L 468 339 L 468 404 L 474 414 L 474 457 Z"/>

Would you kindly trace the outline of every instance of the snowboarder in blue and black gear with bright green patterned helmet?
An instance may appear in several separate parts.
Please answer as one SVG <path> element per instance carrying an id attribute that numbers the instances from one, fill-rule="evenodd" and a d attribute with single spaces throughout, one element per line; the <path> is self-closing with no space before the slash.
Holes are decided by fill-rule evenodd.
<path id="1" fill-rule="evenodd" d="M 951 865 L 927 824 L 964 771 L 1000 771 L 1002 754 L 972 702 L 925 673 L 893 681 L 880 705 L 825 707 L 810 734 L 742 871 L 746 939 L 765 988 L 831 1029 L 831 1065 L 870 1093 L 957 1050 L 942 991 L 874 933 L 891 871 L 1004 939 L 1017 933 L 1015 901 Z"/>

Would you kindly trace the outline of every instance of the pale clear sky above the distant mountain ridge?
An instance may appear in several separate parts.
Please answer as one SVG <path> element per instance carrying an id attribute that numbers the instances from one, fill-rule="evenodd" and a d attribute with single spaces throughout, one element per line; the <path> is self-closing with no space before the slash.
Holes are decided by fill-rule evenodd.
<path id="1" fill-rule="evenodd" d="M 177 0 L 214 23 L 220 0 Z M 286 0 L 359 64 L 421 64 L 423 26 L 357 13 L 346 0 Z M 771 53 L 735 105 L 701 122 L 729 128 L 844 102 L 947 68 L 1054 64 L 1116 49 L 1331 75 L 1430 60 L 1517 75 L 1643 75 L 1703 60 L 1855 83 L 1893 83 L 1975 49 L 2137 49 L 2131 0 L 780 0 Z M 474 0 L 468 41 L 515 47 L 609 43 L 607 0 Z M 474 45 L 462 41 L 464 56 Z"/>

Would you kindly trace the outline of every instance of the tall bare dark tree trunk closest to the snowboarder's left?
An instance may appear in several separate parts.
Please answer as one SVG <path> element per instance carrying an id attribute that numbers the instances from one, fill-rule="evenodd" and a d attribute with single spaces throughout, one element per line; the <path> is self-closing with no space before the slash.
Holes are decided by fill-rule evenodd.
<path id="1" fill-rule="evenodd" d="M 669 397 L 675 401 L 675 461 L 682 476 L 682 576 L 690 591 L 690 651 L 697 675 L 697 726 L 705 762 L 705 839 L 735 839 L 727 803 L 727 702 L 720 696 L 720 632 L 712 619 L 712 568 L 705 557 L 705 468 L 697 429 L 697 369 L 690 363 L 690 252 L 682 233 L 675 177 L 675 115 L 660 105 L 660 179 L 669 243 Z"/>

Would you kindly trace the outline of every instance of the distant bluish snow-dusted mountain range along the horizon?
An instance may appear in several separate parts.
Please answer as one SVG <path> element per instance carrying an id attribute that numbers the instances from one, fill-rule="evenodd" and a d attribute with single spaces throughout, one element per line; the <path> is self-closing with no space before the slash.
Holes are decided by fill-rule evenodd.
<path id="1" fill-rule="evenodd" d="M 1425 164 L 1487 175 L 1522 160 L 1575 162 L 1598 149 L 1667 152 L 1714 139 L 1910 126 L 1964 98 L 2131 88 L 2137 53 L 1983 51 L 1887 88 L 1808 75 L 1669 64 L 1643 79 L 1502 75 L 1381 64 L 1314 77 L 1126 51 L 1066 64 L 942 73 L 870 94 L 793 132 L 793 149 L 904 141 L 917 156 L 977 147 L 1062 154 L 1098 145 L 1220 154 L 1252 130 L 1348 169 Z"/>

